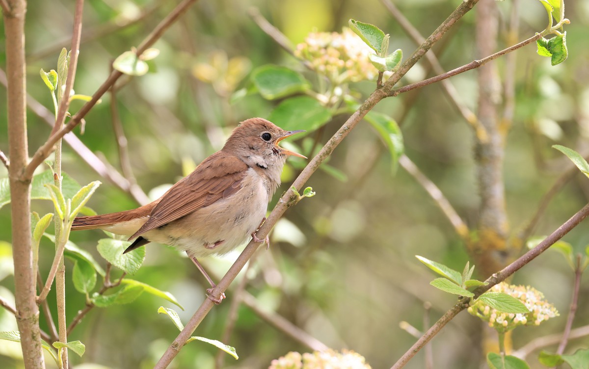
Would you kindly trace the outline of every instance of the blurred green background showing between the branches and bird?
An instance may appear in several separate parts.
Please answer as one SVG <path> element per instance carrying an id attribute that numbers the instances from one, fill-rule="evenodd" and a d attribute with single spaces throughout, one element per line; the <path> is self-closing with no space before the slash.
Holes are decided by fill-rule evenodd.
<path id="1" fill-rule="evenodd" d="M 486 0 L 481 0 L 486 1 Z M 112 59 L 137 46 L 163 16 L 173 9 L 167 1 L 89 0 L 84 8 L 84 29 L 75 79 L 78 94 L 91 95 L 109 73 Z M 425 36 L 429 35 L 459 4 L 458 1 L 395 1 L 403 14 Z M 531 218 L 540 199 L 555 178 L 572 164 L 553 144 L 567 145 L 587 154 L 589 135 L 589 2 L 565 2 L 567 61 L 551 67 L 530 45 L 517 51 L 517 106 L 514 124 L 505 146 L 505 190 L 512 232 Z M 505 23 L 510 1 L 498 2 L 499 48 L 505 43 Z M 521 0 L 522 40 L 545 27 L 544 8 L 537 0 Z M 154 47 L 160 55 L 150 62 L 150 72 L 129 78 L 117 94 L 120 118 L 130 148 L 134 175 L 146 192 L 173 184 L 186 169 L 194 166 L 223 145 L 226 135 L 239 121 L 267 117 L 277 102 L 249 95 L 231 103 L 234 90 L 247 85 L 247 76 L 223 75 L 214 84 L 202 76 L 214 76 L 215 68 L 229 63 L 230 71 L 249 73 L 264 64 L 287 65 L 307 73 L 300 63 L 283 51 L 248 15 L 259 8 L 269 21 L 292 42 L 302 42 L 313 30 L 341 31 L 349 18 L 378 25 L 391 34 L 391 49 L 401 48 L 405 58 L 415 45 L 386 8 L 377 0 L 283 0 L 283 1 L 205 1 L 196 3 L 174 24 Z M 141 16 L 145 9 L 153 8 Z M 62 47 L 70 47 L 74 2 L 69 0 L 29 2 L 27 11 L 27 88 L 31 97 L 51 109 L 51 97 L 39 78 L 39 69 L 57 67 Z M 140 16 L 133 25 L 120 24 Z M 466 64 L 476 54 L 474 12 L 467 14 L 445 36 L 435 51 L 446 70 Z M 106 32 L 104 31 L 106 30 Z M 101 32 L 104 32 L 102 34 Z M 85 41 L 84 41 L 85 40 Z M 0 67 L 5 69 L 5 39 L 0 33 Z M 231 62 L 233 60 L 233 62 Z M 233 64 L 231 64 L 233 63 Z M 504 61 L 497 61 L 502 72 Z M 204 69 L 203 69 L 204 68 Z M 211 69 L 212 68 L 212 69 Z M 402 83 L 426 77 L 428 66 L 419 62 Z M 476 111 L 476 71 L 452 78 L 465 103 Z M 243 75 L 241 77 L 243 77 Z M 200 79 L 197 77 L 201 77 Z M 213 78 L 213 77 L 211 77 Z M 232 79 L 233 78 L 233 79 Z M 125 78 L 123 78 L 125 79 Z M 214 79 L 214 78 L 213 78 Z M 374 82 L 358 82 L 354 88 L 363 97 Z M 5 112 L 6 91 L 0 87 L 0 111 Z M 105 95 L 85 118 L 85 132 L 75 133 L 97 155 L 118 168 L 119 159 L 111 125 L 110 96 Z M 71 112 L 81 102 L 74 102 Z M 455 111 L 439 85 L 388 98 L 375 109 L 398 119 L 405 139 L 406 154 L 432 179 L 468 225 L 478 214 L 478 190 L 474 177 L 472 133 Z M 338 116 L 320 131 L 325 142 L 347 117 Z M 0 149 L 8 152 L 6 114 L 0 115 Z M 48 136 L 42 119 L 28 112 L 29 153 Z M 299 142 L 300 144 L 300 142 Z M 403 169 L 391 173 L 391 158 L 376 132 L 360 124 L 333 153 L 329 165 L 339 178 L 317 171 L 307 182 L 317 195 L 291 208 L 271 235 L 272 247 L 261 247 L 247 272 L 247 291 L 268 311 L 276 311 L 329 347 L 349 348 L 366 357 L 373 368 L 388 368 L 415 341 L 399 328 L 408 321 L 421 330 L 424 302 L 435 321 L 455 298 L 429 285 L 433 274 L 416 260 L 423 255 L 462 270 L 468 260 L 465 247 L 435 202 Z M 103 184 L 89 205 L 98 213 L 127 210 L 137 206 L 130 195 L 100 178 L 75 152 L 64 144 L 63 170 L 84 185 L 101 180 Z M 274 202 L 289 186 L 297 169 L 287 167 L 283 185 Z M 343 174 L 343 176 L 341 175 Z M 0 176 L 6 177 L 4 167 Z M 343 178 L 342 178 L 343 177 Z M 537 227 L 537 235 L 552 232 L 579 210 L 589 198 L 589 182 L 578 174 L 550 203 Z M 272 206 L 271 204 L 270 206 Z M 271 208 L 271 207 L 270 207 Z M 34 201 L 33 210 L 50 210 L 48 201 Z M 0 240 L 10 242 L 10 208 L 0 209 Z M 294 230 L 293 230 L 294 228 Z M 95 255 L 100 231 L 74 232 L 71 240 Z M 587 224 L 581 224 L 565 240 L 581 252 L 589 244 Z M 9 243 L 0 242 L 0 295 L 9 298 L 13 280 Z M 46 241 L 44 241 L 46 242 Z M 203 260 L 218 280 L 237 254 Z M 573 273 L 564 258 L 552 251 L 541 255 L 519 271 L 512 282 L 530 284 L 544 292 L 561 313 L 540 327 L 519 328 L 514 347 L 532 338 L 561 333 L 571 299 Z M 52 245 L 42 244 L 41 271 L 46 275 L 52 258 Z M 71 271 L 71 264 L 67 264 Z M 475 269 L 476 274 L 476 269 Z M 84 296 L 71 285 L 68 272 L 68 320 L 84 308 Z M 243 276 L 242 276 L 243 277 Z M 186 308 L 180 317 L 186 322 L 200 305 L 207 287 L 193 264 L 177 251 L 161 245 L 147 246 L 147 258 L 134 279 L 172 292 Z M 237 285 L 234 282 L 233 287 Z M 196 335 L 219 340 L 226 324 L 234 293 L 229 290 L 223 304 L 213 308 Z M 589 324 L 589 285 L 581 285 L 575 327 Z M 54 291 L 49 295 L 54 306 Z M 69 340 L 81 340 L 87 347 L 84 357 L 70 353 L 74 365 L 96 363 L 110 368 L 150 368 L 176 337 L 176 328 L 157 308 L 174 306 L 143 294 L 129 305 L 95 308 L 76 328 Z M 45 328 L 42 319 L 41 327 Z M 14 317 L 0 310 L 0 330 L 15 329 Z M 436 367 L 478 368 L 481 364 L 481 322 L 460 314 L 433 342 Z M 284 333 L 265 323 L 241 305 L 234 334 L 227 344 L 236 347 L 238 361 L 225 355 L 227 368 L 264 368 L 273 358 L 288 351 L 309 351 Z M 589 338 L 571 341 L 568 352 L 587 347 Z M 0 341 L 0 367 L 20 368 L 18 344 Z M 554 350 L 554 347 L 550 347 Z M 171 367 L 214 367 L 216 349 L 195 341 L 181 351 Z M 535 354 L 528 357 L 539 367 Z M 51 367 L 50 359 L 47 360 Z M 423 353 L 408 368 L 422 368 Z"/>

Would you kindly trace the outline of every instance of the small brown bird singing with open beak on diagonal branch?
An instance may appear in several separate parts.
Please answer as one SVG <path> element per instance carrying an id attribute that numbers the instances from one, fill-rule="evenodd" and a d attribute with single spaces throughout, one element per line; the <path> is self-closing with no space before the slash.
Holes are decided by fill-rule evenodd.
<path id="1" fill-rule="evenodd" d="M 124 253 L 149 242 L 185 251 L 211 285 L 207 297 L 219 304 L 224 294 L 211 295 L 215 284 L 197 259 L 226 254 L 250 239 L 264 241 L 255 232 L 266 220 L 287 157 L 306 159 L 278 144 L 299 132 L 305 131 L 284 131 L 263 118 L 246 119 L 223 148 L 157 200 L 132 210 L 76 217 L 72 230 L 98 228 L 134 240 Z"/>

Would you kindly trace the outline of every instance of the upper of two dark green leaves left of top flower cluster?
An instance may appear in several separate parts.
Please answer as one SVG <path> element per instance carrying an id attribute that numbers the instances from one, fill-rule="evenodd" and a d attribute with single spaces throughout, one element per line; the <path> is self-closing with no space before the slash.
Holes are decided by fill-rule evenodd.
<path id="1" fill-rule="evenodd" d="M 263 65 L 254 69 L 250 79 L 260 95 L 268 100 L 283 98 L 310 88 L 302 74 L 277 65 Z"/>

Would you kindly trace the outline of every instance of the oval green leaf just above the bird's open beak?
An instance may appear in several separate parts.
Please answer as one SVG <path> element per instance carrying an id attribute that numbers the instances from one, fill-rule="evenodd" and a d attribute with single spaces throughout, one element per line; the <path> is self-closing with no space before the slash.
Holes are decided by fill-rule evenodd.
<path id="1" fill-rule="evenodd" d="M 284 129 L 294 131 L 306 129 L 297 134 L 297 138 L 315 132 L 331 119 L 331 113 L 316 99 L 309 96 L 297 96 L 282 101 L 268 117 L 269 121 Z"/>

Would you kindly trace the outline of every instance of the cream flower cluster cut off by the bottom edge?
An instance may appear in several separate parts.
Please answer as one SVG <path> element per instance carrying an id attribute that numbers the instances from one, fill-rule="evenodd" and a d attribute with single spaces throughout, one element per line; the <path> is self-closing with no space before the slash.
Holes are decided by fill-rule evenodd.
<path id="1" fill-rule="evenodd" d="M 370 369 L 365 358 L 354 351 L 315 351 L 312 354 L 290 352 L 278 359 L 272 360 L 268 369 Z"/>

